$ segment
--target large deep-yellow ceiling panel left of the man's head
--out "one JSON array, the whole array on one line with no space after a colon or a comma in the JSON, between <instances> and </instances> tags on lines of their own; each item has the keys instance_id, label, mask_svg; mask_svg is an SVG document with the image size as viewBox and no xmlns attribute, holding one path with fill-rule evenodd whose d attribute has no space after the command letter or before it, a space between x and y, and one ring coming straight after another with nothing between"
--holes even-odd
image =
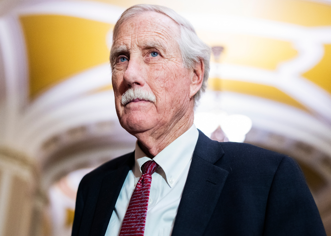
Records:
<instances>
[{"instance_id":1,"label":"large deep-yellow ceiling panel left of the man's head","mask_svg":"<svg viewBox=\"0 0 331 236\"><path fill-rule=\"evenodd\" d=\"M58 15L21 16L33 99L86 69L107 63L106 36L114 25Z\"/></svg>"}]
</instances>

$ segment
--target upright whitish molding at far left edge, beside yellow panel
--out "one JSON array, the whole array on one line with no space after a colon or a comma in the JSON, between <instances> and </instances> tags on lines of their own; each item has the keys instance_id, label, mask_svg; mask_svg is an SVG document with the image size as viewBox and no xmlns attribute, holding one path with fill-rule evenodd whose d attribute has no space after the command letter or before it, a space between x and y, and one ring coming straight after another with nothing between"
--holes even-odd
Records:
<instances>
[{"instance_id":1,"label":"upright whitish molding at far left edge, beside yellow panel","mask_svg":"<svg viewBox=\"0 0 331 236\"><path fill-rule=\"evenodd\" d=\"M24 36L17 18L0 18L0 47L6 83L5 142L13 142L15 129L28 99L28 69Z\"/></svg>"}]
</instances>

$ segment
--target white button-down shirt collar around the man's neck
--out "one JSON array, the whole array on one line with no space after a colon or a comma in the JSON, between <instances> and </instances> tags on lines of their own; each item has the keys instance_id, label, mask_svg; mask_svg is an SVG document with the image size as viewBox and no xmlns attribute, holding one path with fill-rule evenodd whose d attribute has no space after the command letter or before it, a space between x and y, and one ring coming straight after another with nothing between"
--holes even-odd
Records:
<instances>
[{"instance_id":1,"label":"white button-down shirt collar around the man's neck","mask_svg":"<svg viewBox=\"0 0 331 236\"><path fill-rule=\"evenodd\" d=\"M170 188L176 183L185 166L192 159L195 145L197 144L199 131L193 124L185 133L180 135L172 143L166 146L153 160L160 165L166 174L166 181ZM135 173L142 174L141 166L150 161L149 157L141 150L136 142L135 149Z\"/></svg>"}]
</instances>

